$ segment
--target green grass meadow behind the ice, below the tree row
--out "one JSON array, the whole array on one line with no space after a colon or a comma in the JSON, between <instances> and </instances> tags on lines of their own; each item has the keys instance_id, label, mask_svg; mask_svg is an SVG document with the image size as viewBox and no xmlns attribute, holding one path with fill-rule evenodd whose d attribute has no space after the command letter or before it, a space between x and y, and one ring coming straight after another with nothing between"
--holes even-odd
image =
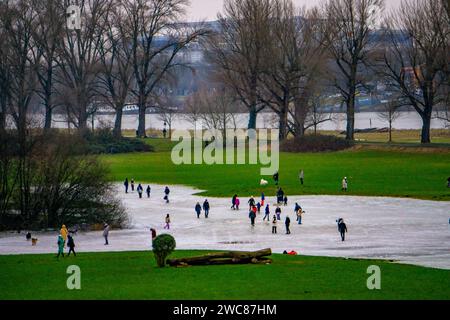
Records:
<instances>
[{"instance_id":1,"label":"green grass meadow behind the ice, below the tree row","mask_svg":"<svg viewBox=\"0 0 450 320\"><path fill-rule=\"evenodd\" d=\"M152 139L149 143L158 151L102 156L111 169L111 180L121 182L128 177L136 182L183 184L218 197L276 192L270 176L266 177L269 186L259 186L259 165L176 166L170 158L170 141ZM300 169L305 171L303 187L298 179ZM447 149L416 152L362 147L333 153L280 154L280 185L288 195L340 195L344 176L349 179L349 195L450 200Z\"/></svg>"}]
</instances>

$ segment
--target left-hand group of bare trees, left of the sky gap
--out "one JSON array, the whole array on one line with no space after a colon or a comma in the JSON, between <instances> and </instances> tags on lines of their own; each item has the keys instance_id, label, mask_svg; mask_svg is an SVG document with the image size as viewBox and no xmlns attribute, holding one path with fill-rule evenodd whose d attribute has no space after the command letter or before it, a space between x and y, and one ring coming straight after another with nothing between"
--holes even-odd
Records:
<instances>
[{"instance_id":1,"label":"left-hand group of bare trees, left of the sky gap","mask_svg":"<svg viewBox=\"0 0 450 320\"><path fill-rule=\"evenodd\" d=\"M70 5L80 8L80 28L67 23ZM117 112L139 108L139 136L145 112L164 92L178 58L206 33L178 23L186 0L11 0L0 3L0 127L10 115L24 133L29 109L45 108L45 128L55 108L79 130L100 104Z\"/></svg>"}]
</instances>

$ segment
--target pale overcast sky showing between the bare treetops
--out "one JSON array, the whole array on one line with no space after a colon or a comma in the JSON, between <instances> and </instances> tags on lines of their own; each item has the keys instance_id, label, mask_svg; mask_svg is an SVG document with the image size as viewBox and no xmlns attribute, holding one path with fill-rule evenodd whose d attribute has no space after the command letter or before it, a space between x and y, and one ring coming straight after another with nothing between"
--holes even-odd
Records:
<instances>
[{"instance_id":1,"label":"pale overcast sky showing between the bare treetops","mask_svg":"<svg viewBox=\"0 0 450 320\"><path fill-rule=\"evenodd\" d=\"M217 12L222 10L223 0L190 0L191 5L188 8L187 20L215 20ZM297 6L314 6L321 0L293 0ZM398 6L401 0L386 0L387 8Z\"/></svg>"}]
</instances>

